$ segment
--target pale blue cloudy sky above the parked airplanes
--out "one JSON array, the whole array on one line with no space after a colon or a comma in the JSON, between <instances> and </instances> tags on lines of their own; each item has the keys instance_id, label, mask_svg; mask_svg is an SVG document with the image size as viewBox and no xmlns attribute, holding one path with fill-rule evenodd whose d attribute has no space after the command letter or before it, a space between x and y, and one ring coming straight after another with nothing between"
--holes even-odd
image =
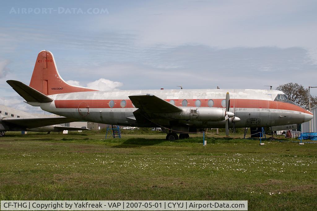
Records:
<instances>
[{"instance_id":1,"label":"pale blue cloudy sky above the parked airplanes","mask_svg":"<svg viewBox=\"0 0 317 211\"><path fill-rule=\"evenodd\" d=\"M29 84L54 54L69 84L100 90L317 86L316 1L1 1L0 104L42 113ZM317 88L312 89L317 95Z\"/></svg>"}]
</instances>

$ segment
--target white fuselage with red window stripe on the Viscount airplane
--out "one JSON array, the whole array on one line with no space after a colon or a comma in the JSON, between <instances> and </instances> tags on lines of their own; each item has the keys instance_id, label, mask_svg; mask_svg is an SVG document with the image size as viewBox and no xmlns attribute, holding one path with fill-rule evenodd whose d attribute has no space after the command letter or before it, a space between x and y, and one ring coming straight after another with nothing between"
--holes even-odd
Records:
<instances>
[{"instance_id":1,"label":"white fuselage with red window stripe on the Viscount airplane","mask_svg":"<svg viewBox=\"0 0 317 211\"><path fill-rule=\"evenodd\" d=\"M230 109L240 121L235 127L266 127L287 124L299 124L311 119L312 114L294 103L276 101L277 90L122 90L88 91L50 95L53 102L41 103L43 110L85 121L115 124L122 126L146 127L133 119L134 108L128 96L152 94L170 102L182 110L224 108L226 92L230 93ZM175 124L195 125L197 128L225 127L225 120L217 121L202 117L182 119L181 116L157 114L149 123L168 127ZM230 122L230 124L232 124Z\"/></svg>"}]
</instances>

